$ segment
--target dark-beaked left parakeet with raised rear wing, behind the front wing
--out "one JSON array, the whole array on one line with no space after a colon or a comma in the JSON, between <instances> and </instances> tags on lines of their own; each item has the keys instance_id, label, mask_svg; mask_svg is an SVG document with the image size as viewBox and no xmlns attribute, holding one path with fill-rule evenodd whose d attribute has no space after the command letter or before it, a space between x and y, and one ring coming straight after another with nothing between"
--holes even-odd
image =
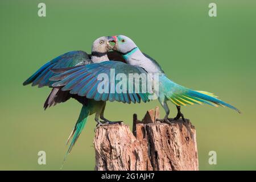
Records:
<instances>
[{"instance_id":1,"label":"dark-beaked left parakeet with raised rear wing, behind the front wing","mask_svg":"<svg viewBox=\"0 0 256 182\"><path fill-rule=\"evenodd\" d=\"M112 40L112 36L104 36L96 39L92 44L92 55L88 55L84 51L71 51L56 57L55 59L43 65L31 77L24 81L23 85L32 83L32 86L38 85L39 88L42 86L52 87L51 85L55 81L50 81L49 78L59 75L59 73L52 72L52 69L79 67L80 65L109 61L108 56L112 58L118 57L117 53L108 52L110 49L112 49L112 46L109 44L109 41ZM119 57L118 60L122 61L122 57ZM97 121L99 125L102 124L102 122L99 120L99 117L106 123L116 123L111 122L104 117L104 110L106 106L105 101L95 101L85 97L70 94L68 91L61 90L59 87L53 88L51 90L51 93L49 94L44 104L44 109L47 109L49 106L56 105L57 103L65 102L69 100L69 98L75 98L77 101L79 101L82 104L82 109L79 118L77 119L77 123L67 141L68 143L69 139L73 136L71 145L68 149L68 153L71 151L73 145L79 137L89 115L96 113L95 121Z\"/></svg>"}]
</instances>

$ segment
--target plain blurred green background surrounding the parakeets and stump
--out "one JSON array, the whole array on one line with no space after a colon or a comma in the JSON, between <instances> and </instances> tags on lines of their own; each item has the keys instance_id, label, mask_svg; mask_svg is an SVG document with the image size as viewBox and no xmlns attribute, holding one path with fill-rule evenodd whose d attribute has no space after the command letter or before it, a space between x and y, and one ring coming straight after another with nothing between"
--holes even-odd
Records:
<instances>
[{"instance_id":1,"label":"plain blurred green background surrounding the parakeets and stump","mask_svg":"<svg viewBox=\"0 0 256 182\"><path fill-rule=\"evenodd\" d=\"M39 2L46 3L44 18L38 16ZM210 2L217 4L217 17L208 16ZM0 169L60 169L81 105L70 100L44 111L49 88L22 82L48 60L73 50L90 52L94 39L118 34L135 40L175 82L213 92L242 111L182 109L196 126L201 170L256 169L255 5L241 0L1 0ZM156 105L108 102L105 113L131 126L133 113L142 118ZM95 126L90 117L63 169L94 169ZM46 165L37 162L40 150L46 151ZM217 165L208 163L212 150Z\"/></svg>"}]
</instances>

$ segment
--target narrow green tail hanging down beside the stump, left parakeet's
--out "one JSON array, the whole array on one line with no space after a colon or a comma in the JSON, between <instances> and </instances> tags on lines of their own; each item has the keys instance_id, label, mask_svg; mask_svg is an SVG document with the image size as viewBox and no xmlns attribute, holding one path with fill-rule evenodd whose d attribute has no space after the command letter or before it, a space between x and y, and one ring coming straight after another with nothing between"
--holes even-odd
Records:
<instances>
[{"instance_id":1,"label":"narrow green tail hanging down beside the stump, left parakeet's","mask_svg":"<svg viewBox=\"0 0 256 182\"><path fill-rule=\"evenodd\" d=\"M70 154L73 146L75 145L77 139L79 138L79 135L81 134L82 129L84 129L84 125L87 121L87 118L88 118L89 114L90 114L89 106L88 105L83 105L82 109L81 109L81 112L80 112L80 115L79 115L79 119L77 119L77 122L76 122L76 125L75 125L74 129L72 130L71 134L68 137L68 140L67 140L66 144L69 143L69 140L71 138L72 138L72 140L71 140L71 144L68 148L68 151L65 155L64 162L65 162L65 159L67 158L67 155Z\"/></svg>"}]
</instances>

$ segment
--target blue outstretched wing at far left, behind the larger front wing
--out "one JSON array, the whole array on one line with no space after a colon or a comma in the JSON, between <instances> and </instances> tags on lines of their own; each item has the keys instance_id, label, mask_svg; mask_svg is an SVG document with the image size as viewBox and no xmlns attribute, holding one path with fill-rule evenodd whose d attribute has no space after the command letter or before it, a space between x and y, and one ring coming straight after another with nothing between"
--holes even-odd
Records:
<instances>
[{"instance_id":1,"label":"blue outstretched wing at far left, behind the larger front wing","mask_svg":"<svg viewBox=\"0 0 256 182\"><path fill-rule=\"evenodd\" d=\"M84 51L71 51L64 53L63 55L60 55L44 64L32 76L27 78L27 80L23 82L23 85L32 83L32 86L38 85L39 88L42 86L51 86L53 81L49 81L49 78L56 75L56 73L51 72L51 69L75 67L76 65L88 63L92 62L88 54Z\"/></svg>"}]
</instances>

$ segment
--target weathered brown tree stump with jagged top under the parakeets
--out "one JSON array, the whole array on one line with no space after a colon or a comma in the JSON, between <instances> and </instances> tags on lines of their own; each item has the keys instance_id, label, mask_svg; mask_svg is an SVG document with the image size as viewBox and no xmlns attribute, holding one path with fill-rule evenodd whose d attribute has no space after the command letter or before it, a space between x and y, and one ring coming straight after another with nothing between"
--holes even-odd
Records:
<instances>
[{"instance_id":1,"label":"weathered brown tree stump with jagged top under the parakeets","mask_svg":"<svg viewBox=\"0 0 256 182\"><path fill-rule=\"evenodd\" d=\"M159 108L142 121L133 116L127 125L98 127L94 137L96 170L198 170L196 130L191 122L158 123Z\"/></svg>"}]
</instances>

